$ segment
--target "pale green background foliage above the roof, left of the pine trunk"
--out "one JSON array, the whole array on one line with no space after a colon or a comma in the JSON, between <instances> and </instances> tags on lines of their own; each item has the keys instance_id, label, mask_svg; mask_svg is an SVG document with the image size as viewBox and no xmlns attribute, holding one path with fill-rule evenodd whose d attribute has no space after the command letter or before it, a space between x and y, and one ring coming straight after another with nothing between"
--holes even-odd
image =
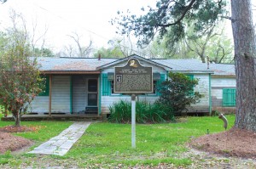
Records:
<instances>
[{"instance_id":1,"label":"pale green background foliage above the roof, left of the pine trunk","mask_svg":"<svg viewBox=\"0 0 256 169\"><path fill-rule=\"evenodd\" d=\"M171 35L175 32L169 31L158 42L164 43L166 56L168 58L196 58L203 63L230 63L233 60L233 45L229 37L224 35L224 23L212 25L201 37L195 36L194 25L186 28L187 33L183 38L172 42Z\"/></svg>"}]
</instances>

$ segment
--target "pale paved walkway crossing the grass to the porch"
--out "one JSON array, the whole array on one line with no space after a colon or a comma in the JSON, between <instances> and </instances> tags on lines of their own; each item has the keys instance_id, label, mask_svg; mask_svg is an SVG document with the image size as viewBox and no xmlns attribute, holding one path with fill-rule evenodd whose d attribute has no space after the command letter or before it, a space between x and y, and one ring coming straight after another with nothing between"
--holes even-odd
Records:
<instances>
[{"instance_id":1,"label":"pale paved walkway crossing the grass to the porch","mask_svg":"<svg viewBox=\"0 0 256 169\"><path fill-rule=\"evenodd\" d=\"M79 121L74 122L73 125L61 132L55 138L49 139L48 142L39 145L37 148L28 152L31 154L45 154L45 155L65 155L67 151L73 146L76 141L84 134L90 122Z\"/></svg>"}]
</instances>

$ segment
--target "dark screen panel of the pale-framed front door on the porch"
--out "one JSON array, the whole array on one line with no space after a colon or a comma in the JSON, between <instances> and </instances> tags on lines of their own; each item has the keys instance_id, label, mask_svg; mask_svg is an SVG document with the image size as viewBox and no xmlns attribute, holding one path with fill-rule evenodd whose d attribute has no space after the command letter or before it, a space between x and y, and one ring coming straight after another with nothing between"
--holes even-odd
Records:
<instances>
[{"instance_id":1,"label":"dark screen panel of the pale-framed front door on the porch","mask_svg":"<svg viewBox=\"0 0 256 169\"><path fill-rule=\"evenodd\" d=\"M98 81L97 79L88 80L88 106L95 107L98 104Z\"/></svg>"}]
</instances>

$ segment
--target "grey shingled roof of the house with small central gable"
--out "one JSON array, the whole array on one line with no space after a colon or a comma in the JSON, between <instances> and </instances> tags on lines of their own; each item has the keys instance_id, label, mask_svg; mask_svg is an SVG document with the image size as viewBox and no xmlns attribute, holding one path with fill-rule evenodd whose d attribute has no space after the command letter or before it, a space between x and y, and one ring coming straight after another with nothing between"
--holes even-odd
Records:
<instances>
[{"instance_id":1,"label":"grey shingled roof of the house with small central gable","mask_svg":"<svg viewBox=\"0 0 256 169\"><path fill-rule=\"evenodd\" d=\"M39 70L44 72L97 72L111 65L116 65L128 59L137 58L148 63L159 65L166 70L181 71L184 73L212 73L213 76L235 76L235 65L201 63L199 59L145 59L131 55L124 59L97 59L97 58L50 58L38 57Z\"/></svg>"}]
</instances>

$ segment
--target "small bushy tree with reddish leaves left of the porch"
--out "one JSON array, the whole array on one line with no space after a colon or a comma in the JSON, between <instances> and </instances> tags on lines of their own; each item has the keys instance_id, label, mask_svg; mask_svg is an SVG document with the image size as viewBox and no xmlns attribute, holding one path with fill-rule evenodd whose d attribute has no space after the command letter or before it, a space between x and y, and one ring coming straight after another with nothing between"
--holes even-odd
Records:
<instances>
[{"instance_id":1,"label":"small bushy tree with reddish leaves left of the porch","mask_svg":"<svg viewBox=\"0 0 256 169\"><path fill-rule=\"evenodd\" d=\"M32 59L32 48L23 25L19 29L12 15L13 27L1 34L0 48L0 104L12 113L15 126L20 126L20 116L26 111L38 93L42 91L44 78L39 76L36 59Z\"/></svg>"}]
</instances>

